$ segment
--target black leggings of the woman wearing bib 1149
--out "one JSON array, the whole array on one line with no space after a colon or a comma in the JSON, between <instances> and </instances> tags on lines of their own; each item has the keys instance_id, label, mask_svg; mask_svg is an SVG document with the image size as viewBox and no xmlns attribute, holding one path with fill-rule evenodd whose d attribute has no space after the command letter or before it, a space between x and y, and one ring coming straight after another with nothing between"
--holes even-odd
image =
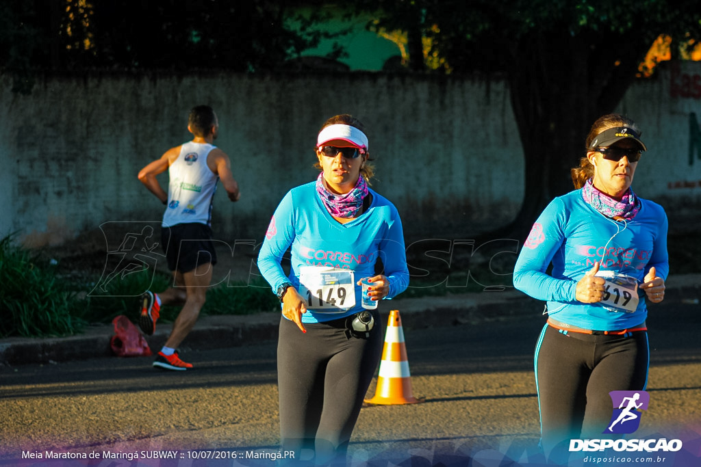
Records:
<instances>
[{"instance_id":1,"label":"black leggings of the woman wearing bib 1149","mask_svg":"<svg viewBox=\"0 0 701 467\"><path fill-rule=\"evenodd\" d=\"M382 328L367 339L345 333L346 319L305 323L280 319L280 443L297 460L343 463L355 421L382 351ZM309 449L309 450L307 450Z\"/></svg>"}]
</instances>

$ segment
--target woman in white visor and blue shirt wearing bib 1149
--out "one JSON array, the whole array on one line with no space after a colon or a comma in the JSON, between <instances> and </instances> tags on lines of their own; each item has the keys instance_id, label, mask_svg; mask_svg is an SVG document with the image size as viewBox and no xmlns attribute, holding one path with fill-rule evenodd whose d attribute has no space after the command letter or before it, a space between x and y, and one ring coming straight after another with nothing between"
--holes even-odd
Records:
<instances>
[{"instance_id":1,"label":"woman in white visor and blue shirt wearing bib 1149","mask_svg":"<svg viewBox=\"0 0 701 467\"><path fill-rule=\"evenodd\" d=\"M345 463L381 354L382 326L376 309L362 306L361 281L369 279L374 301L393 298L409 284L402 222L394 205L367 184L367 149L356 118L329 118L317 138L322 172L285 195L258 258L282 302L282 447L298 460L313 452L321 465ZM289 274L281 265L287 249ZM375 271L378 260L381 274ZM364 311L372 314L374 327L359 333L353 321Z\"/></svg>"}]
</instances>

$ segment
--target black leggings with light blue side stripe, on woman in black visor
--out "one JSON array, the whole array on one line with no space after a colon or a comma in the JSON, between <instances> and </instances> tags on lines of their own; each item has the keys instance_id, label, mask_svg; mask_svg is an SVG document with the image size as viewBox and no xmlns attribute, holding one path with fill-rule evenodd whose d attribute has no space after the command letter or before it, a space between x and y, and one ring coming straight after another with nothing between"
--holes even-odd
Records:
<instances>
[{"instance_id":1,"label":"black leggings with light blue side stripe, on woman in black visor","mask_svg":"<svg viewBox=\"0 0 701 467\"><path fill-rule=\"evenodd\" d=\"M545 454L572 438L604 438L601 433L613 413L608 393L644 390L649 355L646 331L587 335L545 325L536 347L540 442Z\"/></svg>"}]
</instances>

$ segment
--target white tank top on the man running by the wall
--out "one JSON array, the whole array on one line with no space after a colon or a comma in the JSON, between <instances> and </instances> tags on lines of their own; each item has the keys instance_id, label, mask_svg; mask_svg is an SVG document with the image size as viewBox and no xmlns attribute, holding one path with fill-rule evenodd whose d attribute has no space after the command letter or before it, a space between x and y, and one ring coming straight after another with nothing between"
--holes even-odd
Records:
<instances>
[{"instance_id":1,"label":"white tank top on the man running by the wall","mask_svg":"<svg viewBox=\"0 0 701 467\"><path fill-rule=\"evenodd\" d=\"M180 148L177 159L168 167L168 208L163 214L163 227L210 225L219 176L207 166L207 155L216 147L190 141Z\"/></svg>"}]
</instances>

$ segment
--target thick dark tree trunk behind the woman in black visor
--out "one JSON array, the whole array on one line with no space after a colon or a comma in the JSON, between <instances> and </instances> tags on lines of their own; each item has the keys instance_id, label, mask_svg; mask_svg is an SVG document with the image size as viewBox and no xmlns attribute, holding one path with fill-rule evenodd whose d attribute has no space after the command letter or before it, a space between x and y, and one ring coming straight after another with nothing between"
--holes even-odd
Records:
<instances>
[{"instance_id":1,"label":"thick dark tree trunk behind the woman in black visor","mask_svg":"<svg viewBox=\"0 0 701 467\"><path fill-rule=\"evenodd\" d=\"M610 39L534 33L515 47L508 81L524 151L525 191L507 228L513 238L523 241L547 203L574 189L570 169L586 155L592 123L615 109L635 78L646 43L629 41L633 58L621 62L620 48L617 57L606 55Z\"/></svg>"}]
</instances>

